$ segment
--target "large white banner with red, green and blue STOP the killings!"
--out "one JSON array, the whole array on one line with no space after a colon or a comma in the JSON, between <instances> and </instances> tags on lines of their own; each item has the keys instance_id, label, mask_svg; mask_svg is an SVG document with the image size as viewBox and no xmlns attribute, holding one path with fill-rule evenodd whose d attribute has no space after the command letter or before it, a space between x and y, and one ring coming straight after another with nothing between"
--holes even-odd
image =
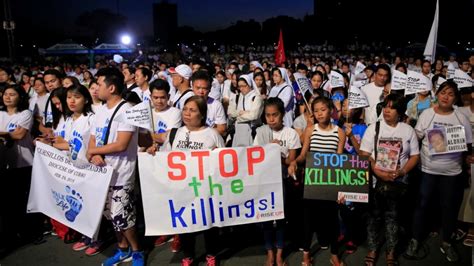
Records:
<instances>
[{"instance_id":1,"label":"large white banner with red, green and blue STOP the killings!","mask_svg":"<svg viewBox=\"0 0 474 266\"><path fill-rule=\"evenodd\" d=\"M138 154L146 235L284 218L277 144Z\"/></svg>"}]
</instances>

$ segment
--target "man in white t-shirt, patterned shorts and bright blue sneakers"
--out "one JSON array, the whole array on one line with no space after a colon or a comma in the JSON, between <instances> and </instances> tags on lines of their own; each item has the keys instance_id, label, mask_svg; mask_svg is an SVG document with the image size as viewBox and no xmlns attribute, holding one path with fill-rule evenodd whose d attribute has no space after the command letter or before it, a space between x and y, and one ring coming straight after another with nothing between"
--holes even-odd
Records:
<instances>
[{"instance_id":1,"label":"man in white t-shirt, patterned shorts and bright blue sneakers","mask_svg":"<svg viewBox=\"0 0 474 266\"><path fill-rule=\"evenodd\" d=\"M102 265L111 266L124 261L144 265L144 253L140 250L135 231L135 205L133 190L137 161L138 132L135 126L115 121L131 105L122 97L123 74L115 68L103 68L97 72L99 98L106 102L96 114L90 134L87 159L97 166L113 167L112 181L106 196L104 216L112 221L118 240L118 250Z\"/></svg>"}]
</instances>

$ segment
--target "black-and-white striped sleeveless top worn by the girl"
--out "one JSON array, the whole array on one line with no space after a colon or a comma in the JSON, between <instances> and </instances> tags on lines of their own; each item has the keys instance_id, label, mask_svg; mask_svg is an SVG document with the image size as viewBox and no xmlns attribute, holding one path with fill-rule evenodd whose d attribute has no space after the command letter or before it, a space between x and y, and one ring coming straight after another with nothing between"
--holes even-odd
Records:
<instances>
[{"instance_id":1,"label":"black-and-white striped sleeveless top worn by the girl","mask_svg":"<svg viewBox=\"0 0 474 266\"><path fill-rule=\"evenodd\" d=\"M337 153L339 144L338 126L334 125L331 131L319 129L318 124L314 125L309 150L311 152Z\"/></svg>"}]
</instances>

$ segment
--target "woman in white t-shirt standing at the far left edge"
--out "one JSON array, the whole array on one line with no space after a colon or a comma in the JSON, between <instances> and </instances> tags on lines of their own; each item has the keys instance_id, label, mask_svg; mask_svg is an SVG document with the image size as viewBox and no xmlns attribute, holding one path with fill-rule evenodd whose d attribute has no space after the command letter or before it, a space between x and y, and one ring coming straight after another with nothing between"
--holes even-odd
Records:
<instances>
[{"instance_id":1,"label":"woman in white t-shirt standing at the far left edge","mask_svg":"<svg viewBox=\"0 0 474 266\"><path fill-rule=\"evenodd\" d=\"M30 135L33 114L28 110L28 94L19 86L7 85L2 100L4 106L0 110L0 137L7 142L2 149L5 161L1 163L7 169L1 175L3 225L0 232L8 232L8 235L2 235L0 239L11 245L10 241L17 236L31 237L27 234L32 229L32 216L26 214L26 205L33 164Z\"/></svg>"}]
</instances>

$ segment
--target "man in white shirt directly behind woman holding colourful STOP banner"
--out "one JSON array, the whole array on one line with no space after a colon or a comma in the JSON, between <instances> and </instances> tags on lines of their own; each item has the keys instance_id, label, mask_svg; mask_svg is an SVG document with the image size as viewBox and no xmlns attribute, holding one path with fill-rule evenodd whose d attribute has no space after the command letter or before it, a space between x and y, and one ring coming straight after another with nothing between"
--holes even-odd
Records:
<instances>
[{"instance_id":1,"label":"man in white shirt directly behind woman holding colourful STOP banner","mask_svg":"<svg viewBox=\"0 0 474 266\"><path fill-rule=\"evenodd\" d=\"M209 97L211 90L211 79L205 70L194 72L191 77L193 83L193 92L197 96L204 97L207 101L207 120L206 125L215 128L219 134L224 135L227 130L227 119L222 103Z\"/></svg>"}]
</instances>

